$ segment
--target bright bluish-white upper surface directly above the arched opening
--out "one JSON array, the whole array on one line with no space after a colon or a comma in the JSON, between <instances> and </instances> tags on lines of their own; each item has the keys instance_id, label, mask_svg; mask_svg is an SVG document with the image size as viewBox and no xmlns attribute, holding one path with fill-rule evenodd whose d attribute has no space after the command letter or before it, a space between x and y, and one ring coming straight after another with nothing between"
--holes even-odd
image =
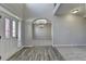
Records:
<instances>
[{"instance_id":1,"label":"bright bluish-white upper surface directly above the arched opening","mask_svg":"<svg viewBox=\"0 0 86 64\"><path fill-rule=\"evenodd\" d=\"M52 15L53 3L26 3L25 18L47 17Z\"/></svg>"}]
</instances>

